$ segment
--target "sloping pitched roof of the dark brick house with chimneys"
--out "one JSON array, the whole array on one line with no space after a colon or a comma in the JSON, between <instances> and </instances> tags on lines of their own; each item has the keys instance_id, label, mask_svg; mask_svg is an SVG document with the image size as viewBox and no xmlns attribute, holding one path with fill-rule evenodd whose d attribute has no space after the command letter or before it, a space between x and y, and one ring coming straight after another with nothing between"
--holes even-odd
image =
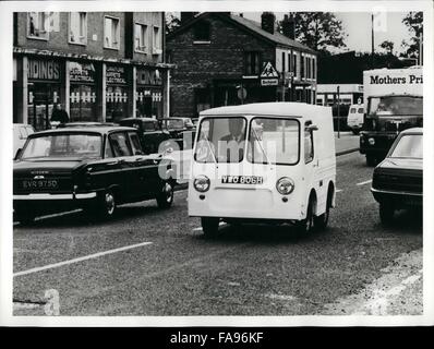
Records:
<instances>
[{"instance_id":1,"label":"sloping pitched roof of the dark brick house with chimneys","mask_svg":"<svg viewBox=\"0 0 434 349\"><path fill-rule=\"evenodd\" d=\"M281 33L275 32L275 34L268 33L267 31L264 31L261 27L261 23L257 23L252 20L248 20L244 17L241 17L236 14L228 14L227 12L225 13L219 13L219 12L204 12L201 15L197 15L193 17L192 20L188 21L185 24L181 25L179 28L177 28L174 32L170 33L167 36L167 39L170 39L177 34L188 29L192 25L194 25L196 22L209 16L209 15L217 15L224 21L230 21L232 24L237 25L241 29L244 29L268 43L272 43L274 45L278 46L285 46L285 47L290 47L290 48L298 48L302 51L311 52L311 53L317 53L315 50L311 49L310 47L300 44L299 41L292 40L289 37L285 36Z\"/></svg>"}]
</instances>

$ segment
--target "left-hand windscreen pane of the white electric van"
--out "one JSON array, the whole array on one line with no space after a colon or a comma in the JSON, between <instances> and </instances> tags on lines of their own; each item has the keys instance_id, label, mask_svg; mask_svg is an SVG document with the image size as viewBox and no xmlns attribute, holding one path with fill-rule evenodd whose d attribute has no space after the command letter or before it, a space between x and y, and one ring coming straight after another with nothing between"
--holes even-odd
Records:
<instances>
[{"instance_id":1,"label":"left-hand windscreen pane of the white electric van","mask_svg":"<svg viewBox=\"0 0 434 349\"><path fill-rule=\"evenodd\" d=\"M201 121L194 159L197 163L240 163L244 156L246 120L243 117Z\"/></svg>"}]
</instances>

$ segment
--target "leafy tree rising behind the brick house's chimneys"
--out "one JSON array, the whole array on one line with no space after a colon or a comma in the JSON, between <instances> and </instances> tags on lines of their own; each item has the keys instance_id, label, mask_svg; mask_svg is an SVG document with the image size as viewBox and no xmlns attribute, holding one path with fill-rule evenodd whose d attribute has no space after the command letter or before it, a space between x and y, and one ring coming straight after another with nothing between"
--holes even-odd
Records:
<instances>
[{"instance_id":1,"label":"leafy tree rising behind the brick house's chimneys","mask_svg":"<svg viewBox=\"0 0 434 349\"><path fill-rule=\"evenodd\" d=\"M301 44L323 53L330 48L346 47L347 34L342 22L330 12L294 12L296 39ZM278 25L281 29L281 22ZM280 31L281 32L281 31Z\"/></svg>"}]
</instances>

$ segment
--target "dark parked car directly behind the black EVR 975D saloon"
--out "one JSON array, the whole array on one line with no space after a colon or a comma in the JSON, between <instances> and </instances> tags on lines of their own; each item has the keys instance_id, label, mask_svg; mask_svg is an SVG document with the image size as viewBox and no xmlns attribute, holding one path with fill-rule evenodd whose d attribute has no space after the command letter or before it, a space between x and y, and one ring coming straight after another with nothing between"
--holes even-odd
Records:
<instances>
[{"instance_id":1,"label":"dark parked car directly behind the black EVR 975D saloon","mask_svg":"<svg viewBox=\"0 0 434 349\"><path fill-rule=\"evenodd\" d=\"M170 133L164 130L157 119L126 118L119 121L120 125L138 130L142 135L146 154L164 153L171 147Z\"/></svg>"}]
</instances>

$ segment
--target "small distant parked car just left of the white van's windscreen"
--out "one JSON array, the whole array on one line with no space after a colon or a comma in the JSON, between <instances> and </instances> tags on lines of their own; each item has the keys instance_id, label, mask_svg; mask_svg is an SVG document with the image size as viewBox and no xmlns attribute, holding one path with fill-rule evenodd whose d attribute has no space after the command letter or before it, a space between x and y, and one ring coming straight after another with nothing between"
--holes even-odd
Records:
<instances>
[{"instance_id":1,"label":"small distant parked car just left of the white van's windscreen","mask_svg":"<svg viewBox=\"0 0 434 349\"><path fill-rule=\"evenodd\" d=\"M190 118L164 118L161 119L161 124L170 133L170 137L177 142L181 151L192 148L196 130Z\"/></svg>"}]
</instances>

